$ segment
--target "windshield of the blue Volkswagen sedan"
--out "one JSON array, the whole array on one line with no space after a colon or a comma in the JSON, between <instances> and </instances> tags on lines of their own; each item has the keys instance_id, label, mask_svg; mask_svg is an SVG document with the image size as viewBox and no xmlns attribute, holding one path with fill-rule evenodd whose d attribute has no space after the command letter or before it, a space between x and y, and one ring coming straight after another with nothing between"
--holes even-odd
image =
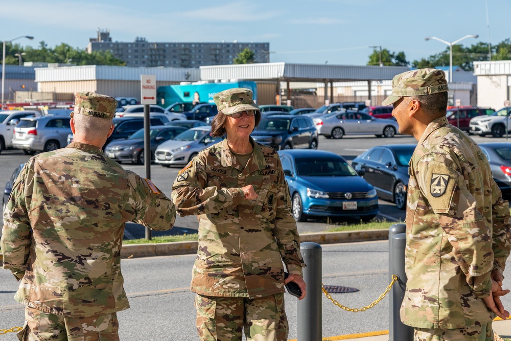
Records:
<instances>
[{"instance_id":1,"label":"windshield of the blue Volkswagen sedan","mask_svg":"<svg viewBox=\"0 0 511 341\"><path fill-rule=\"evenodd\" d=\"M356 176L357 172L337 158L296 158L296 173L300 176Z\"/></svg>"}]
</instances>

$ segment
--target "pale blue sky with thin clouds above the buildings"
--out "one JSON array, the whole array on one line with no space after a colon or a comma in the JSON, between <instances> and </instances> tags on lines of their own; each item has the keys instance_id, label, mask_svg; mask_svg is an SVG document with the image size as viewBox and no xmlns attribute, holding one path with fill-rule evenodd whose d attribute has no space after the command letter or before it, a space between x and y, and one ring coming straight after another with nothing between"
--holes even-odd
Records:
<instances>
[{"instance_id":1,"label":"pale blue sky with thin clouds above the buildings","mask_svg":"<svg viewBox=\"0 0 511 341\"><path fill-rule=\"evenodd\" d=\"M448 47L427 36L496 44L511 37L510 12L510 0L4 0L0 40L85 48L100 28L113 41L269 42L271 62L365 65L370 46L410 61Z\"/></svg>"}]
</instances>

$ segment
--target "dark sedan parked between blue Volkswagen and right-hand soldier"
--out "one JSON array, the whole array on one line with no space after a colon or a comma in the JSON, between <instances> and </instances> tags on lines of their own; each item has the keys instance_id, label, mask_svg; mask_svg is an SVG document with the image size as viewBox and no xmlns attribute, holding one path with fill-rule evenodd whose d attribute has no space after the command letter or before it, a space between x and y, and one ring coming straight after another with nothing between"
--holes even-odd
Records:
<instances>
[{"instance_id":1,"label":"dark sedan parked between blue Volkswagen and right-hand soldier","mask_svg":"<svg viewBox=\"0 0 511 341\"><path fill-rule=\"evenodd\" d=\"M352 166L373 185L380 199L393 201L400 210L406 208L408 163L416 145L373 147L354 158Z\"/></svg>"}]
</instances>

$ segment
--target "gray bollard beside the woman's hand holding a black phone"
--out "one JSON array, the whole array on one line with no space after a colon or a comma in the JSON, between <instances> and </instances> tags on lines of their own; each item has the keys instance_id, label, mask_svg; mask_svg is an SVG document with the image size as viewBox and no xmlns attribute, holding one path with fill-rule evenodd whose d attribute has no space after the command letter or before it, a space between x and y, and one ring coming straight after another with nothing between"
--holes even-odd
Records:
<instances>
[{"instance_id":1,"label":"gray bollard beside the woman's hand holding a black phone","mask_svg":"<svg viewBox=\"0 0 511 341\"><path fill-rule=\"evenodd\" d=\"M298 341L320 341L323 333L321 290L321 245L311 242L300 244L300 252L307 267L304 281L307 284L305 299L298 301Z\"/></svg>"}]
</instances>

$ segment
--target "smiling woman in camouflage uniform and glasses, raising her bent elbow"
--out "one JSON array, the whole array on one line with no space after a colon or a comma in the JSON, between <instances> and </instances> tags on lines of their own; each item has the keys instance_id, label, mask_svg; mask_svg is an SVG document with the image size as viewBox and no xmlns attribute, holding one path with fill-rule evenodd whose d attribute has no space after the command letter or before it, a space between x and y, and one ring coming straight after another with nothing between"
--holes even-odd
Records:
<instances>
[{"instance_id":1,"label":"smiling woman in camouflage uniform and glasses, raising her bent elbow","mask_svg":"<svg viewBox=\"0 0 511 341\"><path fill-rule=\"evenodd\" d=\"M250 138L261 119L250 90L225 90L214 100L212 135L227 137L195 156L172 187L177 213L199 219L191 284L197 331L201 340L241 340L243 329L248 340L286 340L284 283L296 282L300 299L306 288L280 158Z\"/></svg>"}]
</instances>

